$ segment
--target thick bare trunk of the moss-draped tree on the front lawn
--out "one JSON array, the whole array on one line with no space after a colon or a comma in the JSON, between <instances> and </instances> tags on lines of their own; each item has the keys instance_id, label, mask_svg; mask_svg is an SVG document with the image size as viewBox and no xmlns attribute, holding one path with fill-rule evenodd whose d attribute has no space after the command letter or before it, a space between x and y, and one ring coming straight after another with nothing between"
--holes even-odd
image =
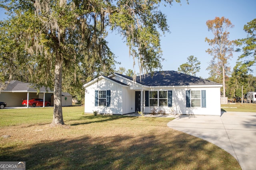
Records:
<instances>
[{"instance_id":1,"label":"thick bare trunk of the moss-draped tree on the front lawn","mask_svg":"<svg viewBox=\"0 0 256 170\"><path fill-rule=\"evenodd\" d=\"M62 55L56 52L54 70L54 106L52 125L64 125L62 115Z\"/></svg>"}]
</instances>

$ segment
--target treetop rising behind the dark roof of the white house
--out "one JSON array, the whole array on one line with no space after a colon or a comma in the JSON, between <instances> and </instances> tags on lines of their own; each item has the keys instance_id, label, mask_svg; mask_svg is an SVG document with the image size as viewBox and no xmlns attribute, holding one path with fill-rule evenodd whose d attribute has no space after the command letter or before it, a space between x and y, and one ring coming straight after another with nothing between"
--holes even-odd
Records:
<instances>
[{"instance_id":1,"label":"treetop rising behind the dark roof of the white house","mask_svg":"<svg viewBox=\"0 0 256 170\"><path fill-rule=\"evenodd\" d=\"M185 64L180 65L180 67L178 68L178 72L189 74L191 76L196 76L196 73L200 70L201 63L193 55L190 55L187 60L188 61Z\"/></svg>"}]
</instances>

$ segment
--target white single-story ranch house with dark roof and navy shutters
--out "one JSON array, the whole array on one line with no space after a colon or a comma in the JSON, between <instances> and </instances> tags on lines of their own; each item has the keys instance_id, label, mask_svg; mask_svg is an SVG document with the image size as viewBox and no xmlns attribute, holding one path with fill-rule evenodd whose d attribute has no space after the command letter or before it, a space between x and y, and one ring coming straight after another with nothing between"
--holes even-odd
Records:
<instances>
[{"instance_id":1,"label":"white single-story ranch house with dark roof and navy shutters","mask_svg":"<svg viewBox=\"0 0 256 170\"><path fill-rule=\"evenodd\" d=\"M176 71L132 77L114 73L84 84L85 113L221 115L222 84Z\"/></svg>"}]
</instances>

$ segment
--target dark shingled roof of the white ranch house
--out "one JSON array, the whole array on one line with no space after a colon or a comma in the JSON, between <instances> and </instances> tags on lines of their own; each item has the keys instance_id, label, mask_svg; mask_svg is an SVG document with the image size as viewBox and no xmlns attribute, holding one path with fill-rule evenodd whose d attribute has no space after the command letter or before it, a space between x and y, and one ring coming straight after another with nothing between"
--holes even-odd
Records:
<instances>
[{"instance_id":1,"label":"dark shingled roof of the white ranch house","mask_svg":"<svg viewBox=\"0 0 256 170\"><path fill-rule=\"evenodd\" d=\"M115 73L118 74L118 73ZM130 76L118 74L130 80ZM156 71L153 74L148 73L141 76L136 76L136 82L145 86L191 86L191 85L221 85L216 82L190 76L176 71Z\"/></svg>"}]
</instances>

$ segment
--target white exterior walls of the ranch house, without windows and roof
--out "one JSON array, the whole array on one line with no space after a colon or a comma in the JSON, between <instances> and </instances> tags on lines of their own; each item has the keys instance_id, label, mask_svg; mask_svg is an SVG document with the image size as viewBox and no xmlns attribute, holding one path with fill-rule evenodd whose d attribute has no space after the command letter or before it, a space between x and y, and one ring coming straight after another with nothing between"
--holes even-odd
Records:
<instances>
[{"instance_id":1,"label":"white exterior walls of the ranch house, without windows and roof","mask_svg":"<svg viewBox=\"0 0 256 170\"><path fill-rule=\"evenodd\" d=\"M151 113L153 107L145 107L145 91L168 91L172 90L172 107L155 107L156 111L165 113L188 114L188 115L220 115L220 86L218 87L143 87L141 84L115 76L114 79L128 84L122 86L107 78L100 78L86 87L85 113L98 111L104 114L126 114L135 111L135 91L143 89L143 112ZM111 90L110 107L95 107L95 90ZM186 90L206 90L206 108L186 107ZM202 96L201 96L202 97ZM201 101L202 103L202 101Z\"/></svg>"}]
</instances>

